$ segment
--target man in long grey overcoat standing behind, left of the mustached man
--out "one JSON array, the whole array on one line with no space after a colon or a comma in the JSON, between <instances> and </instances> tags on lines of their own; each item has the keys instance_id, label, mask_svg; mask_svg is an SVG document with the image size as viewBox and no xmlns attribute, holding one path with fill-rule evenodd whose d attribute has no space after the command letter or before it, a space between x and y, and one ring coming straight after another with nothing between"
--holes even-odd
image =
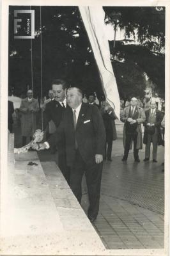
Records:
<instances>
[{"instance_id":1,"label":"man in long grey overcoat standing behind, left of the mustached man","mask_svg":"<svg viewBox=\"0 0 170 256\"><path fill-rule=\"evenodd\" d=\"M33 91L27 91L27 98L22 99L20 103L20 122L22 133L22 146L26 145L27 137L30 140L33 138L33 134L36 130L36 113L39 111L38 100L33 98Z\"/></svg>"}]
</instances>

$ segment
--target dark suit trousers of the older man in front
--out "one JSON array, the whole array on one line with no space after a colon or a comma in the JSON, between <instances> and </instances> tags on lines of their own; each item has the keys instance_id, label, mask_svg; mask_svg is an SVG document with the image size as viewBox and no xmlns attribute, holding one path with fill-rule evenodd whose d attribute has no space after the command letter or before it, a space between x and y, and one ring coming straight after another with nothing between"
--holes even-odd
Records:
<instances>
[{"instance_id":1,"label":"dark suit trousers of the older man in front","mask_svg":"<svg viewBox=\"0 0 170 256\"><path fill-rule=\"evenodd\" d=\"M76 150L75 161L70 168L70 188L81 204L82 197L82 176L85 172L88 187L89 209L88 216L97 217L100 201L100 186L102 179L103 163L87 164L81 157L79 150Z\"/></svg>"}]
</instances>

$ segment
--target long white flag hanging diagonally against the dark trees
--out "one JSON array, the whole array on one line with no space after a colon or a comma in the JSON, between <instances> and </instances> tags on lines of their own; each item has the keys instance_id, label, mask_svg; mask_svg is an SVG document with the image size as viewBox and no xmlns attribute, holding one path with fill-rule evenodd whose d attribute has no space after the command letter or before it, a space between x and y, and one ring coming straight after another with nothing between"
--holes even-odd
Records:
<instances>
[{"instance_id":1,"label":"long white flag hanging diagonally against the dark trees","mask_svg":"<svg viewBox=\"0 0 170 256\"><path fill-rule=\"evenodd\" d=\"M112 70L109 42L105 35L105 12L102 6L79 6L79 10L97 61L105 98L120 119L120 95Z\"/></svg>"}]
</instances>

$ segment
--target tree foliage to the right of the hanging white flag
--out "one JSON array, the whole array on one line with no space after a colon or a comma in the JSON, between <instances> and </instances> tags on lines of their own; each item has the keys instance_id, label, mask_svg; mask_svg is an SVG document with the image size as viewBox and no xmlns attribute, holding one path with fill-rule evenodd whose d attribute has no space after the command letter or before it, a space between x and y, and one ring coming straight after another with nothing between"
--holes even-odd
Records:
<instances>
[{"instance_id":1,"label":"tree foliage to the right of the hanging white flag","mask_svg":"<svg viewBox=\"0 0 170 256\"><path fill-rule=\"evenodd\" d=\"M125 31L125 40L116 44L110 42L113 67L120 61L120 66L125 63L135 73L137 65L153 81L155 90L164 95L165 8L104 7L104 10L107 23L112 24L114 29ZM137 44L134 44L132 36Z\"/></svg>"}]
</instances>

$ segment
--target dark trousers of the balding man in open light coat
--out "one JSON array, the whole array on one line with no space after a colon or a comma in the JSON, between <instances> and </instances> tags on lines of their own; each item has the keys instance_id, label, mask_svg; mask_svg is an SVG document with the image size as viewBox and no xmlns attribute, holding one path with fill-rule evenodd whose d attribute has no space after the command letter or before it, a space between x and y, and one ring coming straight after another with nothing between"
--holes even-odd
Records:
<instances>
[{"instance_id":1,"label":"dark trousers of the balding man in open light coat","mask_svg":"<svg viewBox=\"0 0 170 256\"><path fill-rule=\"evenodd\" d=\"M127 157L128 157L128 152L130 150L131 140L134 141L134 159L139 159L139 156L138 156L139 149L136 149L137 133L135 133L135 132L134 133L127 133L126 134L124 158L127 159Z\"/></svg>"}]
</instances>

